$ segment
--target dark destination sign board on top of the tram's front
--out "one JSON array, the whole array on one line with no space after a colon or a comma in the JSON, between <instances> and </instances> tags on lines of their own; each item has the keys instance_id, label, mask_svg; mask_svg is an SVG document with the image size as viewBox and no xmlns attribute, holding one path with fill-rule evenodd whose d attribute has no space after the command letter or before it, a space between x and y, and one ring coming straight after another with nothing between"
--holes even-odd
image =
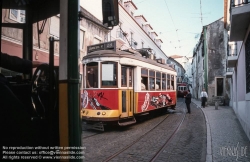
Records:
<instances>
[{"instance_id":1,"label":"dark destination sign board on top of the tram's front","mask_svg":"<svg viewBox=\"0 0 250 162\"><path fill-rule=\"evenodd\" d=\"M87 52L100 51L100 50L116 50L116 41L105 42L87 46Z\"/></svg>"}]
</instances>

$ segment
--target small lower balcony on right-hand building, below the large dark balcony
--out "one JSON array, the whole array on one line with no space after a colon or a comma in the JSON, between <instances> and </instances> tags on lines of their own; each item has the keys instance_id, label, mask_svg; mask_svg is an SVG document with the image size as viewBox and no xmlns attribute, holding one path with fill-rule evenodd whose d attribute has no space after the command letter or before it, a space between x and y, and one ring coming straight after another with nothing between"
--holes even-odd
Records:
<instances>
[{"instance_id":1,"label":"small lower balcony on right-hand building, below the large dark balcony","mask_svg":"<svg viewBox=\"0 0 250 162\"><path fill-rule=\"evenodd\" d=\"M237 56L237 44L234 42L229 42L229 50L227 54L227 66L228 67L235 67L238 56Z\"/></svg>"}]
</instances>

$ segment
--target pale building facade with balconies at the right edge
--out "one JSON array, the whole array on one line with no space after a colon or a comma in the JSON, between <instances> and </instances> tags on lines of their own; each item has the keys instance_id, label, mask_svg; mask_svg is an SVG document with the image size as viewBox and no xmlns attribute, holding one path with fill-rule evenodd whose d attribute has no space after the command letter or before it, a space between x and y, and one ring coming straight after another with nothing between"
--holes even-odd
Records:
<instances>
[{"instance_id":1,"label":"pale building facade with balconies at the right edge","mask_svg":"<svg viewBox=\"0 0 250 162\"><path fill-rule=\"evenodd\" d=\"M250 2L224 0L224 22L228 30L227 74L230 106L250 139Z\"/></svg>"}]
</instances>

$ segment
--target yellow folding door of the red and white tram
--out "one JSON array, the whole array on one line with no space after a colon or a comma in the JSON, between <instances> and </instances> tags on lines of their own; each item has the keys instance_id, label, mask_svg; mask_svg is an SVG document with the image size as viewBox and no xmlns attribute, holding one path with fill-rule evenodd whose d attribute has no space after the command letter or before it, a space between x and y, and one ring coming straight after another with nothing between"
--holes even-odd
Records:
<instances>
[{"instance_id":1,"label":"yellow folding door of the red and white tram","mask_svg":"<svg viewBox=\"0 0 250 162\"><path fill-rule=\"evenodd\" d=\"M121 66L121 117L131 117L134 112L134 88L133 88L133 67L130 66Z\"/></svg>"}]
</instances>

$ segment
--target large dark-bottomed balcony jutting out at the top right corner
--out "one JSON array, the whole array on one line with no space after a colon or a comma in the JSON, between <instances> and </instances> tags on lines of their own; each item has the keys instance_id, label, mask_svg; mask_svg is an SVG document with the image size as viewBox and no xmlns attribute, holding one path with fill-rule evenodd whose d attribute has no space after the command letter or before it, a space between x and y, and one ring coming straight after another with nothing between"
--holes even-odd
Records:
<instances>
[{"instance_id":1,"label":"large dark-bottomed balcony jutting out at the top right corner","mask_svg":"<svg viewBox=\"0 0 250 162\"><path fill-rule=\"evenodd\" d=\"M230 41L242 41L250 22L250 0L232 0Z\"/></svg>"}]
</instances>

